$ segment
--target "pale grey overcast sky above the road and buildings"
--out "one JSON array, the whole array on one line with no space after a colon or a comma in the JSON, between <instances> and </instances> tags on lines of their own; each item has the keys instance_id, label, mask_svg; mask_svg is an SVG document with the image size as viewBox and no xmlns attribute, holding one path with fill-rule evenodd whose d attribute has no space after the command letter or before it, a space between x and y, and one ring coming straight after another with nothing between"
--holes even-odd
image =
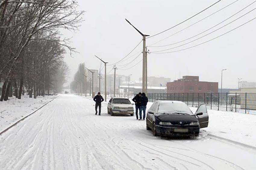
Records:
<instances>
[{"instance_id":1,"label":"pale grey overcast sky above the road and buildings","mask_svg":"<svg viewBox=\"0 0 256 170\"><path fill-rule=\"evenodd\" d=\"M80 52L79 54L74 54L73 58L68 54L65 55L65 61L70 67L69 82L73 79L73 74L76 72L79 63L84 62L90 69L100 68L100 62L94 57L94 54L110 64L115 63L126 56L126 54L141 41L142 36L125 21L125 18L142 33L154 35L186 20L216 1L217 0L78 0L80 10L86 11L84 14L85 21L82 23L78 32L64 32L64 36L73 37L71 45ZM222 0L217 5L214 5L193 19L163 34L148 38L146 45L149 46L158 42L235 1L236 0ZM194 36L220 23L253 1L254 0L238 0L233 5L217 12L211 17L155 45L171 44ZM256 2L208 32L229 23L253 8L256 8ZM208 41L251 20L255 16L256 10L202 39L168 51L180 50ZM218 39L188 50L169 54L148 54L148 76L164 76L173 80L188 74L199 76L200 81L219 82L220 87L221 69L227 69L223 72L223 88L237 88L238 78L242 78L248 82L256 82L255 27L256 19ZM186 42L161 48L148 47L148 49L149 51L157 51L182 45ZM142 51L142 43L132 54L139 51ZM122 63L119 63L119 65L124 65L133 60L133 62L123 69L130 68L142 59L141 55L134 60L136 56L137 55L134 55L124 60ZM122 66L117 66L117 68L121 67ZM107 73L110 72L111 69L112 66L108 66ZM113 73L113 71L111 73ZM130 70L117 70L117 74L133 74L131 79L138 80L139 77L142 77L142 62Z\"/></svg>"}]
</instances>

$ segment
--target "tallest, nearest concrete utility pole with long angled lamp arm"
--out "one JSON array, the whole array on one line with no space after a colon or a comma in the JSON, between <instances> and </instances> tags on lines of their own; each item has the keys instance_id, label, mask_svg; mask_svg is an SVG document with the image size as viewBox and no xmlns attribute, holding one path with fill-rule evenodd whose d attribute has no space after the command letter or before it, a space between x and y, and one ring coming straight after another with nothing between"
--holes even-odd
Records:
<instances>
[{"instance_id":1,"label":"tallest, nearest concrete utility pole with long angled lamp arm","mask_svg":"<svg viewBox=\"0 0 256 170\"><path fill-rule=\"evenodd\" d=\"M125 19L126 20L126 19ZM128 20L126 20L131 26L133 26ZM146 86L146 70L147 70L147 61L146 61L146 36L149 36L149 35L145 35L145 34L142 34L142 32L140 32L135 26L133 26L134 29L136 29L136 31L138 31L140 33L140 35L142 35L143 37L143 61L142 61L142 92L146 92L146 89L145 89L145 86Z\"/></svg>"}]
</instances>

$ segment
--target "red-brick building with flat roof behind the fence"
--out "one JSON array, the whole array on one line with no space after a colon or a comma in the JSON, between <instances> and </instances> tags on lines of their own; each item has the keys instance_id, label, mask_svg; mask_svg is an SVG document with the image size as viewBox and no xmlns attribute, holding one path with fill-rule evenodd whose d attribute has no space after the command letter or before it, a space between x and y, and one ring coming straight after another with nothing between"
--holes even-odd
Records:
<instances>
[{"instance_id":1,"label":"red-brick building with flat roof behind the fence","mask_svg":"<svg viewBox=\"0 0 256 170\"><path fill-rule=\"evenodd\" d=\"M218 82L199 82L199 76L183 76L167 82L167 93L218 93Z\"/></svg>"}]
</instances>

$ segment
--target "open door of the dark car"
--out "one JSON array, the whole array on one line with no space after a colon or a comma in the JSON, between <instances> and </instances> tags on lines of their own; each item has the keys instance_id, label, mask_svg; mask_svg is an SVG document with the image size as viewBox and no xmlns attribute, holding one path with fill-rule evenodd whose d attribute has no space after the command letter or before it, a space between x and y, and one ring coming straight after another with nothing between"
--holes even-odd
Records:
<instances>
[{"instance_id":1,"label":"open door of the dark car","mask_svg":"<svg viewBox=\"0 0 256 170\"><path fill-rule=\"evenodd\" d=\"M198 115L199 113L199 115ZM203 114L201 114L203 113ZM200 123L200 128L207 128L208 127L208 122L209 122L209 115L207 113L207 107L205 104L201 104L196 112L195 115Z\"/></svg>"}]
</instances>

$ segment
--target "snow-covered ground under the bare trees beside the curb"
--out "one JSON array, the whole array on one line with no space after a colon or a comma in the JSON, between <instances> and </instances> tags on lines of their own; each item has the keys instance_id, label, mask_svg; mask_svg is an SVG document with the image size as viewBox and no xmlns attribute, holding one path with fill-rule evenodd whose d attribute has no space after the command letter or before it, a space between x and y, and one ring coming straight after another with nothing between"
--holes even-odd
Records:
<instances>
[{"instance_id":1,"label":"snow-covered ground under the bare trees beside the curb","mask_svg":"<svg viewBox=\"0 0 256 170\"><path fill-rule=\"evenodd\" d=\"M38 96L34 99L25 95L21 99L9 97L9 100L0 102L0 132L55 97Z\"/></svg>"}]
</instances>

